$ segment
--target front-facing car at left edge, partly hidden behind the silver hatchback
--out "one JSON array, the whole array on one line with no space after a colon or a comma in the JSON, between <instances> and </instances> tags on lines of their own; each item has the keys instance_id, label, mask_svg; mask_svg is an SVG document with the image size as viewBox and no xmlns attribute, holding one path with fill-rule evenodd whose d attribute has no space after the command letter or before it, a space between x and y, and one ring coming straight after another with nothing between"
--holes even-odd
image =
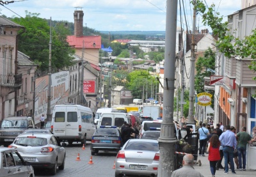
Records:
<instances>
[{"instance_id":1,"label":"front-facing car at left edge, partly hidden behind the silver hatchback","mask_svg":"<svg viewBox=\"0 0 256 177\"><path fill-rule=\"evenodd\" d=\"M7 147L28 128L36 128L31 117L4 118L0 129L0 146Z\"/></svg>"}]
</instances>

